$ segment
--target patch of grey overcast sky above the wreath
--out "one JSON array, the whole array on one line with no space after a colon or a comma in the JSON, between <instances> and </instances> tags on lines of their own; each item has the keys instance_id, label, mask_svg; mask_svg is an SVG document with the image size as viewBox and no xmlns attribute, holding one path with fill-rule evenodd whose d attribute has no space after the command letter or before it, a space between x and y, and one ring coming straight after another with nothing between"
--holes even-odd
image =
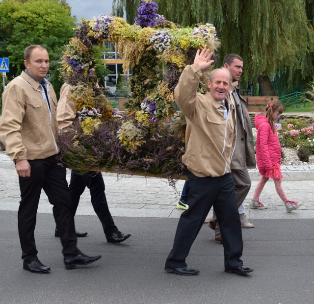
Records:
<instances>
[{"instance_id":1,"label":"patch of grey overcast sky above the wreath","mask_svg":"<svg viewBox=\"0 0 314 304\"><path fill-rule=\"evenodd\" d=\"M110 15L112 9L112 0L67 0L67 3L78 21L83 17L90 20L99 15Z\"/></svg>"}]
</instances>

